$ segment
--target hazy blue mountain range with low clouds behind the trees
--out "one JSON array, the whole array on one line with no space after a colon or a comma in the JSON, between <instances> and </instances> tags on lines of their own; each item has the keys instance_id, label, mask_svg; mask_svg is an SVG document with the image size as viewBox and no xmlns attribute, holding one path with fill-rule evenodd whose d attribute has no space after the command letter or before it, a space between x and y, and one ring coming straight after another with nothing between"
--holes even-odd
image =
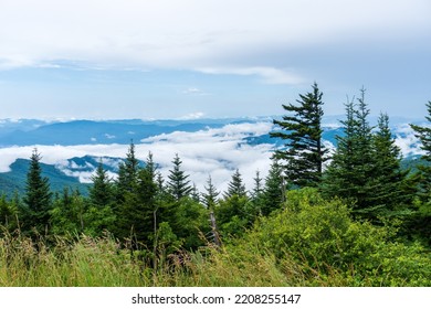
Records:
<instances>
[{"instance_id":1,"label":"hazy blue mountain range with low clouds behind the trees","mask_svg":"<svg viewBox=\"0 0 431 309\"><path fill-rule=\"evenodd\" d=\"M207 164L201 170L196 168L197 163L192 167L195 170L191 172L201 177L200 180L198 179L199 182L203 182L204 173L221 173L221 169L232 171L235 168L234 157L238 157L239 152L250 157L248 159L250 166L253 166L253 162L262 161L261 166L253 168L264 170L266 163L263 163L263 160L267 160L267 152L282 146L280 139L270 138L269 132L273 129L272 119L273 117L70 121L3 119L0 120L0 160L2 152L8 153L4 156L9 158L10 164L9 168L4 167L7 170L0 172L0 192L10 194L15 190L24 191L28 158L31 153L28 153L27 157L19 153L28 151L29 147L52 147L46 151L59 152L50 153L50 157L57 156L57 159L42 163L43 174L50 178L53 191L61 191L63 187L70 187L80 189L83 194L86 194L87 183L91 182L91 177L99 162L104 164L109 175L115 178L118 164L124 160L126 153L125 151L118 152L117 148L128 146L132 140L137 145L143 145L143 147L147 146L148 149L155 148L157 150L161 147L160 145L165 146L158 150L157 154L160 159L164 159L165 154L174 158L175 152L185 152L185 161L195 160L193 162L200 164L213 160L211 167ZM343 135L338 119L343 119L343 116L325 117L324 119L324 140L329 147L336 145L337 135ZM375 119L371 119L372 121ZM401 148L404 158L414 158L414 156L420 154L420 145L408 126L410 122L421 124L421 120L397 118L392 119L391 124L397 145ZM218 143L229 145L229 148L223 150L222 147L219 147L220 153L217 153L219 152ZM204 148L209 147L214 147L214 150L204 152ZM73 156L72 150L76 152L77 149L82 156ZM113 149L116 149L116 152ZM123 147L123 149L127 148ZM87 151L88 153L86 153ZM69 152L70 157L67 157ZM165 159L165 163L161 162L165 174L169 170L169 159ZM218 166L216 167L216 164ZM245 173L250 174L251 171ZM224 179L220 177L219 183L225 183L229 180L228 175L229 173L224 171Z\"/></svg>"}]
</instances>

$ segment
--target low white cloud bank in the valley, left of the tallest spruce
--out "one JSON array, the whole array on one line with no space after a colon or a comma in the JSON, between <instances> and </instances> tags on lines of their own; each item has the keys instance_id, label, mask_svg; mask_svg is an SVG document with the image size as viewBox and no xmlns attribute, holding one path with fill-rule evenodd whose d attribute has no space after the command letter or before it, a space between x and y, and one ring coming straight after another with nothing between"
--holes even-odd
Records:
<instances>
[{"instance_id":1,"label":"low white cloud bank in the valley, left of the tallest spruce","mask_svg":"<svg viewBox=\"0 0 431 309\"><path fill-rule=\"evenodd\" d=\"M255 171L260 170L262 177L267 172L272 145L250 146L243 141L243 138L267 134L271 128L271 124L261 122L228 125L196 132L177 131L143 140L143 143L136 145L136 154L140 160L145 160L151 151L155 162L166 178L172 168L171 161L178 153L183 162L183 170L190 174L190 180L201 191L203 191L209 174L219 190L225 190L232 173L238 168L243 174L248 189L252 190ZM67 159L86 154L124 158L128 148L127 145L115 143L35 147L42 154L42 162L59 166L61 170L69 175L77 177L82 182L90 182L92 173L67 171ZM1 148L0 172L9 171L9 166L17 158L28 159L33 149L34 146ZM117 164L118 162L104 158L104 163Z\"/></svg>"}]
</instances>

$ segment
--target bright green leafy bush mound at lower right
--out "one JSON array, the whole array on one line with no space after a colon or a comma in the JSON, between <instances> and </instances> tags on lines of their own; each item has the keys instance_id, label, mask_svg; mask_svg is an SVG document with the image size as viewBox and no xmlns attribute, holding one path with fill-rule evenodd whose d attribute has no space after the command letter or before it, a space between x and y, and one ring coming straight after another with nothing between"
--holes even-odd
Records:
<instances>
[{"instance_id":1,"label":"bright green leafy bush mound at lower right","mask_svg":"<svg viewBox=\"0 0 431 309\"><path fill-rule=\"evenodd\" d=\"M355 222L341 201L304 189L288 192L286 210L262 220L245 239L280 263L293 258L309 278L318 274L325 280L336 273L353 286L430 286L430 254L393 241L396 232Z\"/></svg>"}]
</instances>

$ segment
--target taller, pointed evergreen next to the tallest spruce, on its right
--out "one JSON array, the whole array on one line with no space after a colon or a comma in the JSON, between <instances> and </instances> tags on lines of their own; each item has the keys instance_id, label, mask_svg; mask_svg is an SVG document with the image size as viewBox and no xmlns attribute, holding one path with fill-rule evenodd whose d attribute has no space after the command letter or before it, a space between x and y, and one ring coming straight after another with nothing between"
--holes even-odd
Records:
<instances>
[{"instance_id":1,"label":"taller, pointed evergreen next to the tallest spruce, on its right","mask_svg":"<svg viewBox=\"0 0 431 309\"><path fill-rule=\"evenodd\" d=\"M372 149L372 127L368 122L369 109L365 89L358 105L346 104L344 136L337 136L337 149L325 172L322 191L327 196L349 200L355 214L370 217L378 211L372 204L371 180L378 173Z\"/></svg>"}]
</instances>

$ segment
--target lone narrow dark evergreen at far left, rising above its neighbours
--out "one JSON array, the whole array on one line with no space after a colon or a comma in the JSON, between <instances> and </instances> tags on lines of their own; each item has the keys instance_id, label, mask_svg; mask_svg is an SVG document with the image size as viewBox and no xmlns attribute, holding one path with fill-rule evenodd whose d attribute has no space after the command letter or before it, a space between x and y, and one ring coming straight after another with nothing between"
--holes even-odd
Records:
<instances>
[{"instance_id":1,"label":"lone narrow dark evergreen at far left, rising above its neighbours","mask_svg":"<svg viewBox=\"0 0 431 309\"><path fill-rule=\"evenodd\" d=\"M41 154L38 149L33 150L30 158L30 168L27 174L25 195L23 202L27 206L27 225L28 228L35 228L39 233L48 231L50 223L50 210L52 193L50 190L49 179L42 177L40 160Z\"/></svg>"}]
</instances>

